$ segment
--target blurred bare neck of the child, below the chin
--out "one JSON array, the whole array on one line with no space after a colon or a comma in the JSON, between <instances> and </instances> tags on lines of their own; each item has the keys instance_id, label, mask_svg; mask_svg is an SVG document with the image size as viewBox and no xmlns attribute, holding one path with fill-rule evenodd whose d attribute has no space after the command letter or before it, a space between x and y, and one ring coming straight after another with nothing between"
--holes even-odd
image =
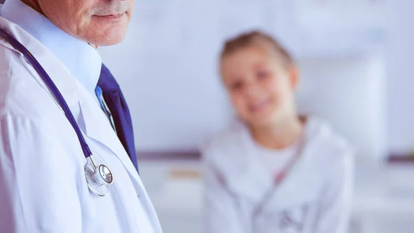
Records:
<instances>
[{"instance_id":1,"label":"blurred bare neck of the child, below the chin","mask_svg":"<svg viewBox=\"0 0 414 233\"><path fill-rule=\"evenodd\" d=\"M268 125L250 125L253 139L266 148L284 149L296 143L304 133L304 119L297 115L279 119Z\"/></svg>"}]
</instances>

